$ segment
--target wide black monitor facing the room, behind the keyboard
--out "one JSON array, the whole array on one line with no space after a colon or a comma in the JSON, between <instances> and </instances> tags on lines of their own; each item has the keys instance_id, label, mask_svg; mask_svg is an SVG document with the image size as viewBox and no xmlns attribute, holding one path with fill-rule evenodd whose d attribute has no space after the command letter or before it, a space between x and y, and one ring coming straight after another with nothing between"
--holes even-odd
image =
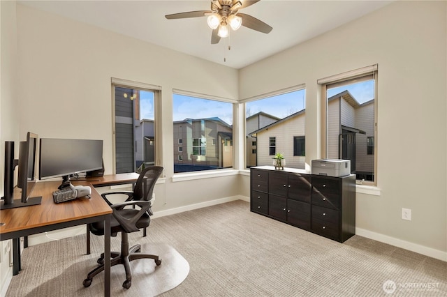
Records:
<instances>
[{"instance_id":1,"label":"wide black monitor facing the room, behind the keyboard","mask_svg":"<svg viewBox=\"0 0 447 297\"><path fill-rule=\"evenodd\" d=\"M59 189L73 187L70 176L103 168L103 141L41 138L39 178L62 176Z\"/></svg>"}]
</instances>

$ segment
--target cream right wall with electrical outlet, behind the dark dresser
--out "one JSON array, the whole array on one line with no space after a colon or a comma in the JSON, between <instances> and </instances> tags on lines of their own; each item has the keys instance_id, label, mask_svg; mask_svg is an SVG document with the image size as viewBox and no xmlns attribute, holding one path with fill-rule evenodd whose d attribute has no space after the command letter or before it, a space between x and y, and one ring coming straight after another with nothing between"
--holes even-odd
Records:
<instances>
[{"instance_id":1,"label":"cream right wall with electrical outlet, behind the dark dresser","mask_svg":"<svg viewBox=\"0 0 447 297\"><path fill-rule=\"evenodd\" d=\"M380 195L357 193L357 234L447 261L446 5L397 1L247 66L240 99L304 83L309 163L320 157L317 79L378 63Z\"/></svg>"}]
</instances>

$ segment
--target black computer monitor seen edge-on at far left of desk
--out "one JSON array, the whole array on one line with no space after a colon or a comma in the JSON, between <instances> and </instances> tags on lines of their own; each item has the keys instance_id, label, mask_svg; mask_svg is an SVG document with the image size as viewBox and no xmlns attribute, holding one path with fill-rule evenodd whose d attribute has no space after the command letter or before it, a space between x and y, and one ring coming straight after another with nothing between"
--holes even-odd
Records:
<instances>
[{"instance_id":1,"label":"black computer monitor seen edge-on at far left of desk","mask_svg":"<svg viewBox=\"0 0 447 297\"><path fill-rule=\"evenodd\" d=\"M27 140L24 142L20 142L19 160L18 160L19 174L17 180L17 188L22 189L22 196L20 200L18 199L13 200L12 197L10 197L11 199L6 199L5 195L5 201L3 201L3 204L1 204L1 209L41 204L42 197L31 197L31 193L33 192L34 186L36 185L37 182L36 178L37 139L38 135L32 132L28 132ZM13 178L13 172L14 172L14 166L12 167L12 170L8 170L8 172L5 172L5 175L8 176L8 180L10 178Z\"/></svg>"}]
</instances>

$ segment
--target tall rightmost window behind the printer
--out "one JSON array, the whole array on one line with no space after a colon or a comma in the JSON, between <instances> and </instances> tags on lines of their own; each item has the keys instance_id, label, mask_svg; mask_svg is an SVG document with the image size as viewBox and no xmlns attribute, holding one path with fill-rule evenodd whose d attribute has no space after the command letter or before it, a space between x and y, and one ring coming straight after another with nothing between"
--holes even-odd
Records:
<instances>
[{"instance_id":1,"label":"tall rightmost window behind the printer","mask_svg":"<svg viewBox=\"0 0 447 297\"><path fill-rule=\"evenodd\" d=\"M351 160L351 173L376 184L377 65L318 79L322 86L322 157ZM366 144L366 146L365 146Z\"/></svg>"}]
</instances>

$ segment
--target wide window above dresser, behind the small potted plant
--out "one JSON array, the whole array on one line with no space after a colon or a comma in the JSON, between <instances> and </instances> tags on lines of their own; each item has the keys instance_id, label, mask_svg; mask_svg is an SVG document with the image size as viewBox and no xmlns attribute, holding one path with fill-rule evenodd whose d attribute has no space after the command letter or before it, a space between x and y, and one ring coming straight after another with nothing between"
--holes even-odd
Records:
<instances>
[{"instance_id":1,"label":"wide window above dresser, behind the small potted plant","mask_svg":"<svg viewBox=\"0 0 447 297\"><path fill-rule=\"evenodd\" d=\"M305 169L302 155L295 154L294 136L305 136L305 95L303 85L241 100L245 103L245 165L272 165L272 155L283 153L287 167Z\"/></svg>"}]
</instances>

